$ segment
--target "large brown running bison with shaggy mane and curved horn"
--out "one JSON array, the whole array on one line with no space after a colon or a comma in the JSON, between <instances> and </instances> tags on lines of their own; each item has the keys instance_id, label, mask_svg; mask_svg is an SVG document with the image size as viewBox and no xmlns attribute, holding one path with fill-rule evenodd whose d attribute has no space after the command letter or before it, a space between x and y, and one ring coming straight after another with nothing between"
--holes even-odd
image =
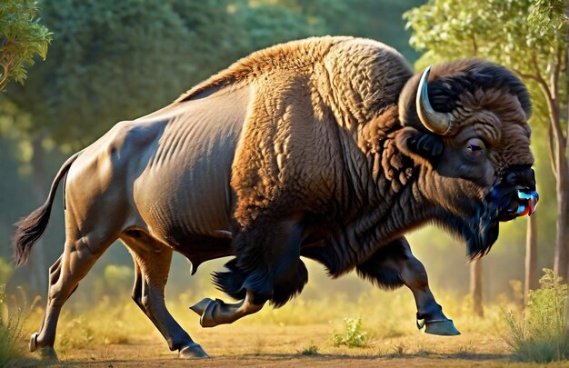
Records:
<instances>
[{"instance_id":1,"label":"large brown running bison with shaggy mane and curved horn","mask_svg":"<svg viewBox=\"0 0 569 368\"><path fill-rule=\"evenodd\" d=\"M355 269L379 287L406 285L427 333L457 334L404 234L437 224L474 258L499 221L532 214L530 113L522 82L483 60L414 75L393 48L352 37L245 57L73 155L17 224L20 265L64 179L65 247L30 349L55 355L61 307L117 239L135 261L135 303L182 357L207 355L165 307L174 251L193 273L235 255L214 282L240 302L195 304L204 327L284 305L307 282L304 256L333 277Z\"/></svg>"}]
</instances>

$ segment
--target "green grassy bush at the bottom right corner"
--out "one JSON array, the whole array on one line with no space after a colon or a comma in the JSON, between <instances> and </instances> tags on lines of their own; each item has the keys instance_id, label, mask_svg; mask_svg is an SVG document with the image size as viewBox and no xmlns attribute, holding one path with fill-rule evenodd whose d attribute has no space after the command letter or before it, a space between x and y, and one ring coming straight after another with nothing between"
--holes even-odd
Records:
<instances>
[{"instance_id":1,"label":"green grassy bush at the bottom right corner","mask_svg":"<svg viewBox=\"0 0 569 368\"><path fill-rule=\"evenodd\" d=\"M524 318L517 322L506 313L510 330L505 338L516 360L548 363L569 359L569 334L565 330L564 301L567 285L552 270L544 269L541 288L528 297Z\"/></svg>"}]
</instances>

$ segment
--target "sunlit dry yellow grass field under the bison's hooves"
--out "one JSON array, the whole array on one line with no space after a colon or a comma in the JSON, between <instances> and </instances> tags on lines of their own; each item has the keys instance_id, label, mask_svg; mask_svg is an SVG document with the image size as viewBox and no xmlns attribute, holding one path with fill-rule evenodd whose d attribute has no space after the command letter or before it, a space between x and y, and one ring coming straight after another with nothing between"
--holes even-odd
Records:
<instances>
[{"instance_id":1,"label":"sunlit dry yellow grass field under the bison's hooves","mask_svg":"<svg viewBox=\"0 0 569 368\"><path fill-rule=\"evenodd\" d=\"M214 292L212 292L214 293ZM215 293L214 293L215 294ZM210 293L211 295L211 293ZM162 336L135 303L105 296L95 305L68 303L60 320L55 348L59 362L41 361L25 353L14 366L72 367L366 367L366 366L484 366L525 367L515 363L504 340L504 313L520 313L505 299L487 305L484 319L469 312L467 299L443 294L439 302L463 333L456 337L428 335L414 327L414 301L408 290L370 290L358 300L344 293L324 299L295 299L283 308L265 308L231 325L204 329L187 306L197 295L180 294L168 304L175 318L210 359L180 360L169 352ZM214 296L221 296L214 295ZM40 305L43 303L40 303ZM43 310L33 309L25 321L21 349L39 326ZM356 333L363 347L336 345L334 334L345 337L345 318L361 318ZM552 363L551 366L569 366Z\"/></svg>"}]
</instances>

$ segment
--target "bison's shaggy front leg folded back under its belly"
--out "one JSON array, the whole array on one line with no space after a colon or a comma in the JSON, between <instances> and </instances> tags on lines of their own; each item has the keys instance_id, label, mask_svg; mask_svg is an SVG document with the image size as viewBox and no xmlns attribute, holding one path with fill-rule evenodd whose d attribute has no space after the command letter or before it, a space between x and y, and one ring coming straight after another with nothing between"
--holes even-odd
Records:
<instances>
[{"instance_id":1,"label":"bison's shaggy front leg folded back under its belly","mask_svg":"<svg viewBox=\"0 0 569 368\"><path fill-rule=\"evenodd\" d=\"M235 260L226 273L215 274L216 285L239 303L205 298L191 309L203 327L234 323L260 311L267 301L282 306L300 293L308 280L300 260L302 228L293 221L253 227L235 236Z\"/></svg>"}]
</instances>

